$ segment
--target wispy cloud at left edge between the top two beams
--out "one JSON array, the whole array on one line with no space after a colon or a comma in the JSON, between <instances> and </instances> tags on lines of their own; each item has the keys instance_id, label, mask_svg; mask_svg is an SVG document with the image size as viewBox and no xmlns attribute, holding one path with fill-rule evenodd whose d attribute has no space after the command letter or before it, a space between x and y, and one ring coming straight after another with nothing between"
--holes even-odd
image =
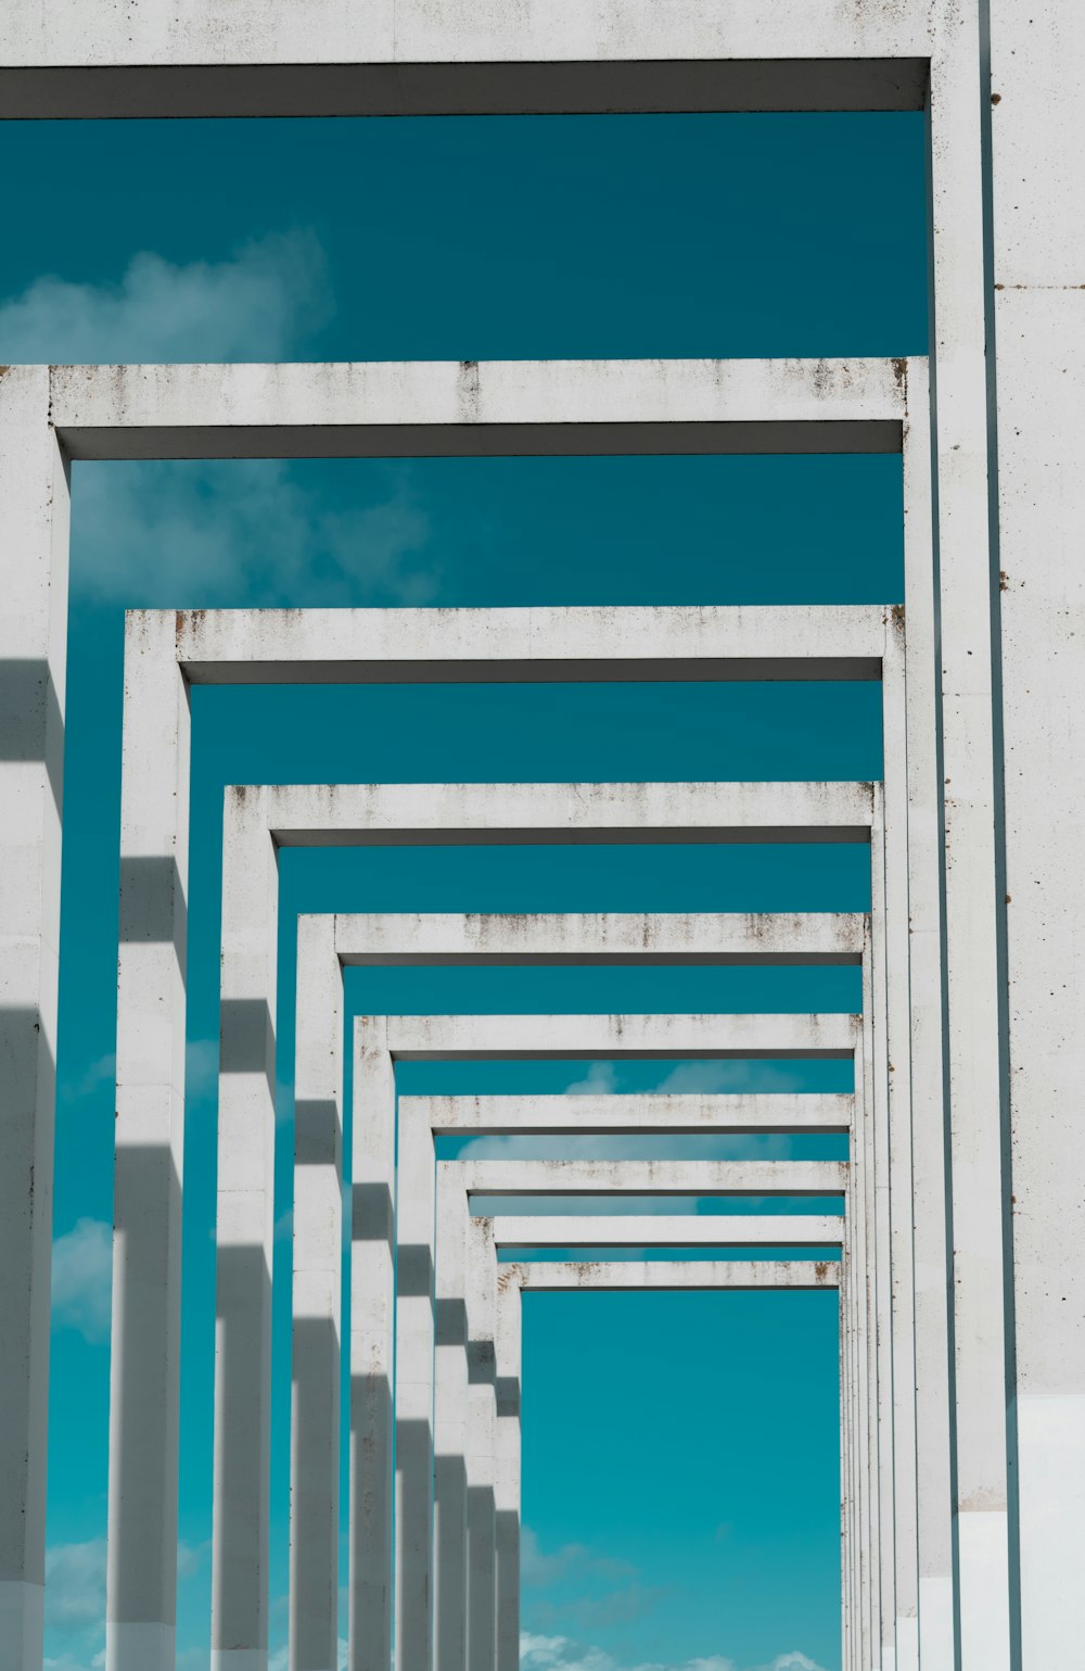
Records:
<instances>
[{"instance_id":1,"label":"wispy cloud at left edge between the top two beams","mask_svg":"<svg viewBox=\"0 0 1085 1671\"><path fill-rule=\"evenodd\" d=\"M45 276L0 302L0 361L287 359L331 311L310 231L272 232L217 262L142 251L112 284Z\"/></svg>"}]
</instances>

